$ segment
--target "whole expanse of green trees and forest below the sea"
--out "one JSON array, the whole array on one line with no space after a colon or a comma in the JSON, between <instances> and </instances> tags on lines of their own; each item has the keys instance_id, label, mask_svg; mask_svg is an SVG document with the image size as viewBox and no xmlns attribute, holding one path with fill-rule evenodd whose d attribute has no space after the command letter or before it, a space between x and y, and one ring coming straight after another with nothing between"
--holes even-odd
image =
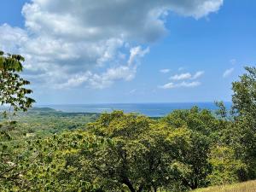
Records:
<instances>
[{"instance_id":1,"label":"whole expanse of green trees and forest below the sea","mask_svg":"<svg viewBox=\"0 0 256 192\"><path fill-rule=\"evenodd\" d=\"M187 191L255 179L256 68L246 69L233 83L230 112L218 102L216 113L194 107L161 119L18 113L1 137L0 189Z\"/></svg>"}]
</instances>

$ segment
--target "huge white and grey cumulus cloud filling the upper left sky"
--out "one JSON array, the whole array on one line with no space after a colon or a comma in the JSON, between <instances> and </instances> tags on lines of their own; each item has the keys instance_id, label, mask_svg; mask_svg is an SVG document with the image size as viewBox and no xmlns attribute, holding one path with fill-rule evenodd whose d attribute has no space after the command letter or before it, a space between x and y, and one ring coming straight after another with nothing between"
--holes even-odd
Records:
<instances>
[{"instance_id":1,"label":"huge white and grey cumulus cloud filling the upper left sky","mask_svg":"<svg viewBox=\"0 0 256 192\"><path fill-rule=\"evenodd\" d=\"M223 0L32 0L22 9L24 28L0 26L0 49L26 57L25 73L32 83L104 88L135 77L147 44L166 34L170 11L199 19L222 4Z\"/></svg>"}]
</instances>

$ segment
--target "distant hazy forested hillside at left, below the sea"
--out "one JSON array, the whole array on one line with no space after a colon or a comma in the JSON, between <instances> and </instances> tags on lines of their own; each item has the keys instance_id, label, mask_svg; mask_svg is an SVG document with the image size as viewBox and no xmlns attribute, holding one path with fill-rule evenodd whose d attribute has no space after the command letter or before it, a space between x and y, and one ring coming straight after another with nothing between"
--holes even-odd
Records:
<instances>
[{"instance_id":1,"label":"distant hazy forested hillside at left, below the sea","mask_svg":"<svg viewBox=\"0 0 256 192\"><path fill-rule=\"evenodd\" d=\"M17 125L15 129L9 130L9 134L14 139L49 137L62 131L84 129L87 123L94 121L98 116L98 113L65 113L52 108L32 108L13 117Z\"/></svg>"}]
</instances>

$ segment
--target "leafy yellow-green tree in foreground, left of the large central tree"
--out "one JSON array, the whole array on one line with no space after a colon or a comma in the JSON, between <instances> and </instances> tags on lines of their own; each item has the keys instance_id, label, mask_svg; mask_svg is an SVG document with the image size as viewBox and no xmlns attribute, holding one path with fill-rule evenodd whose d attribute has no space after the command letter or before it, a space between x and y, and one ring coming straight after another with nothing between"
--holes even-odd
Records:
<instances>
[{"instance_id":1,"label":"leafy yellow-green tree in foreground, left of the large central tree","mask_svg":"<svg viewBox=\"0 0 256 192\"><path fill-rule=\"evenodd\" d=\"M36 156L26 162L26 188L29 191L96 191L100 181L93 180L90 172L91 153L107 141L86 131L67 131L44 139L28 141Z\"/></svg>"}]
</instances>

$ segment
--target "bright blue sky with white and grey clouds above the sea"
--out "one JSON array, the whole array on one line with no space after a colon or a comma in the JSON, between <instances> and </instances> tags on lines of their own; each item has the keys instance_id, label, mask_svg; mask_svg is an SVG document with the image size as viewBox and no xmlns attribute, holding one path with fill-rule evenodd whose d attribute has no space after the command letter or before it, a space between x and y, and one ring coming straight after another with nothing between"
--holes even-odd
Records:
<instances>
[{"instance_id":1,"label":"bright blue sky with white and grey clouds above the sea","mask_svg":"<svg viewBox=\"0 0 256 192\"><path fill-rule=\"evenodd\" d=\"M256 61L253 0L2 0L0 49L38 104L231 100Z\"/></svg>"}]
</instances>

